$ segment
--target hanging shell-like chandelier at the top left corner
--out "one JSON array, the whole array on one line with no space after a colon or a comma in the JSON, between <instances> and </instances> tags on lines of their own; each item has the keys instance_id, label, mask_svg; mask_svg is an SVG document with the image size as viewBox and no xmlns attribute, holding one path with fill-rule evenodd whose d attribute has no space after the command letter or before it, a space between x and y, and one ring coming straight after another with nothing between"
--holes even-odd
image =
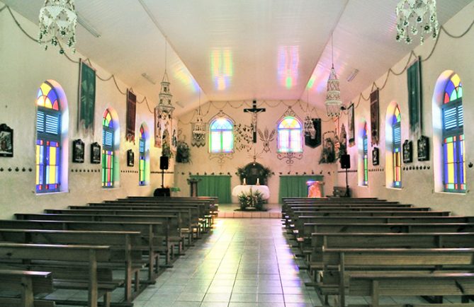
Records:
<instances>
[{"instance_id":1,"label":"hanging shell-like chandelier at the top left corner","mask_svg":"<svg viewBox=\"0 0 474 307\"><path fill-rule=\"evenodd\" d=\"M76 25L77 15L74 8L74 0L45 0L45 5L40 9L40 34L38 42L47 42L57 46L58 37L64 40L72 52L76 52ZM60 49L63 54L64 50Z\"/></svg>"}]
</instances>

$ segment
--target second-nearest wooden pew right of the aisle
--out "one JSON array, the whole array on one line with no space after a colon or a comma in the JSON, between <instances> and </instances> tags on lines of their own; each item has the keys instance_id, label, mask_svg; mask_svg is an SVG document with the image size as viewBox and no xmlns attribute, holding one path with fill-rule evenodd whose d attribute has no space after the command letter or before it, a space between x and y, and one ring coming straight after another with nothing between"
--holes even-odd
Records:
<instances>
[{"instance_id":1,"label":"second-nearest wooden pew right of the aisle","mask_svg":"<svg viewBox=\"0 0 474 307\"><path fill-rule=\"evenodd\" d=\"M350 288L358 284L351 284L352 274L359 278L364 274L367 276L376 275L379 279L383 277L393 279L400 273L411 274L410 277L416 279L418 284L412 284L413 289L410 293L424 295L423 289L429 288L431 283L441 283L442 278L437 279L436 275L432 274L433 272L444 273L441 271L444 267L448 270L455 269L456 273L463 273L462 270L472 270L474 248L324 248L322 259L324 272L318 288L326 296L337 294L339 306L345 306L347 287L349 286L349 293L354 294L354 290L351 291ZM417 276L420 278L417 279ZM428 276L431 276L431 279L427 278ZM401 284L406 280L407 278L400 279L398 283ZM471 280L474 285L474 279ZM363 286L362 284L358 285ZM358 289L357 291L362 290ZM370 288L363 289L363 291L363 293L371 293ZM461 292L458 290L457 294L461 294ZM470 295L470 293L474 294L469 291L465 295ZM398 295L404 294L402 292ZM429 295L442 296L445 294L436 292Z\"/></svg>"}]
</instances>

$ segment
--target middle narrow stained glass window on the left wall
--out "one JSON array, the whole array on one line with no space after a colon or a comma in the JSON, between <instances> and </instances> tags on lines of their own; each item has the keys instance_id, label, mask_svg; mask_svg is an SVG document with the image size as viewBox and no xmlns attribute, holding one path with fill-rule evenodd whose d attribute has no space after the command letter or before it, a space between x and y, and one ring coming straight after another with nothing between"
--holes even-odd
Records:
<instances>
[{"instance_id":1,"label":"middle narrow stained glass window on the left wall","mask_svg":"<svg viewBox=\"0 0 474 307\"><path fill-rule=\"evenodd\" d=\"M113 187L113 133L113 119L107 109L102 120L102 187Z\"/></svg>"}]
</instances>

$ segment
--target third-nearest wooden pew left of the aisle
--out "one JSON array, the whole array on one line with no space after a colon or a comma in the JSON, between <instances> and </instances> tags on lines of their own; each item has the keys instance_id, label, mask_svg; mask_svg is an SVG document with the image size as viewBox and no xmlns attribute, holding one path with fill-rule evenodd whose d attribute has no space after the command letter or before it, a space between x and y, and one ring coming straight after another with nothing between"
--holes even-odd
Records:
<instances>
[{"instance_id":1,"label":"third-nearest wooden pew left of the aisle","mask_svg":"<svg viewBox=\"0 0 474 307\"><path fill-rule=\"evenodd\" d=\"M139 249L142 245L140 231L57 231L39 229L3 229L0 228L0 240L11 243L35 244L75 244L75 245L110 245L110 263L101 264L106 267L124 270L125 301L140 294L140 269L145 263ZM132 289L132 279L135 277L135 287ZM133 292L132 290L135 290Z\"/></svg>"}]
</instances>

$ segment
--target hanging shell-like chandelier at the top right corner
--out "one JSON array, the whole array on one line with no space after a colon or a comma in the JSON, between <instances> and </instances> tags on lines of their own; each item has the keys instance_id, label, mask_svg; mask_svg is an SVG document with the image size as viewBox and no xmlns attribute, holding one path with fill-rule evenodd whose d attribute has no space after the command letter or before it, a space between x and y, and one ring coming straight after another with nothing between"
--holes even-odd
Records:
<instances>
[{"instance_id":1,"label":"hanging shell-like chandelier at the top right corner","mask_svg":"<svg viewBox=\"0 0 474 307\"><path fill-rule=\"evenodd\" d=\"M424 42L424 34L438 36L438 18L436 17L436 0L401 0L395 9L397 14L398 42L404 40L412 43L412 37L421 32L419 41Z\"/></svg>"}]
</instances>

